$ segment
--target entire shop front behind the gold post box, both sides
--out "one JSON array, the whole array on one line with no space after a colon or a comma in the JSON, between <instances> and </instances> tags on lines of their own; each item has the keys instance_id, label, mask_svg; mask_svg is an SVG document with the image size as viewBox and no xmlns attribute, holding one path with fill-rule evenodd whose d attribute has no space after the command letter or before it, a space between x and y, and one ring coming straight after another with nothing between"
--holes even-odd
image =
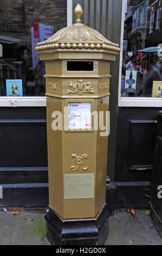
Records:
<instances>
[{"instance_id":1,"label":"entire shop front behind the gold post box, both sides","mask_svg":"<svg viewBox=\"0 0 162 256\"><path fill-rule=\"evenodd\" d=\"M14 12L6 4L5 25L3 21L0 25L0 205L48 205L45 70L34 46L72 25L80 3L83 23L121 48L110 71L109 209L148 207L157 117L162 110L162 2L43 2L16 1Z\"/></svg>"}]
</instances>

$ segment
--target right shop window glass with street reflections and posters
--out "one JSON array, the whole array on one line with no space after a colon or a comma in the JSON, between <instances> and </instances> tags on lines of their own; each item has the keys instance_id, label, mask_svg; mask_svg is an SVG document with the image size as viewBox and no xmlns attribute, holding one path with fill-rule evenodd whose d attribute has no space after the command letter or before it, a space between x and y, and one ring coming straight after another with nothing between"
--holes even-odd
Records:
<instances>
[{"instance_id":1,"label":"right shop window glass with street reflections and posters","mask_svg":"<svg viewBox=\"0 0 162 256\"><path fill-rule=\"evenodd\" d=\"M121 97L162 97L160 4L125 0Z\"/></svg>"}]
</instances>

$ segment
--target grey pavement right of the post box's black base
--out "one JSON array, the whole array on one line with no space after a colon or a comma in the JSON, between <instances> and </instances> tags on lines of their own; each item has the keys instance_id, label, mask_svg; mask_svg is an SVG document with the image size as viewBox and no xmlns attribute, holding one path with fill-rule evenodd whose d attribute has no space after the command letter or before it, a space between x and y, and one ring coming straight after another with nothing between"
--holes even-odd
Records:
<instances>
[{"instance_id":1,"label":"grey pavement right of the post box's black base","mask_svg":"<svg viewBox=\"0 0 162 256\"><path fill-rule=\"evenodd\" d=\"M124 209L116 209L109 217L109 237L106 245L162 245L162 239L155 229L146 209L136 210L134 216Z\"/></svg>"}]
</instances>

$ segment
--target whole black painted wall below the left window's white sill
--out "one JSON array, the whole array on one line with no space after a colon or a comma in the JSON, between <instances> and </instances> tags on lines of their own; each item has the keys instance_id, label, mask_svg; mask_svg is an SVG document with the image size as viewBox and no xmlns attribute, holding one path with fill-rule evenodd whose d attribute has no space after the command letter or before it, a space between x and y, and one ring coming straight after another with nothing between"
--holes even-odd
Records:
<instances>
[{"instance_id":1,"label":"whole black painted wall below the left window's white sill","mask_svg":"<svg viewBox=\"0 0 162 256\"><path fill-rule=\"evenodd\" d=\"M47 206L46 108L0 111L0 206Z\"/></svg>"}]
</instances>

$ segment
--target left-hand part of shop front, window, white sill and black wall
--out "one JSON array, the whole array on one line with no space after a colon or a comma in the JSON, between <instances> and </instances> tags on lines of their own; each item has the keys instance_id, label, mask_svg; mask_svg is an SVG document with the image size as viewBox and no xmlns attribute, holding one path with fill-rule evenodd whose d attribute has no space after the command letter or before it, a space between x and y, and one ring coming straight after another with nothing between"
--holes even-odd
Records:
<instances>
[{"instance_id":1,"label":"left-hand part of shop front, window, white sill and black wall","mask_svg":"<svg viewBox=\"0 0 162 256\"><path fill-rule=\"evenodd\" d=\"M44 63L35 44L67 25L67 1L1 1L1 206L48 205Z\"/></svg>"}]
</instances>

